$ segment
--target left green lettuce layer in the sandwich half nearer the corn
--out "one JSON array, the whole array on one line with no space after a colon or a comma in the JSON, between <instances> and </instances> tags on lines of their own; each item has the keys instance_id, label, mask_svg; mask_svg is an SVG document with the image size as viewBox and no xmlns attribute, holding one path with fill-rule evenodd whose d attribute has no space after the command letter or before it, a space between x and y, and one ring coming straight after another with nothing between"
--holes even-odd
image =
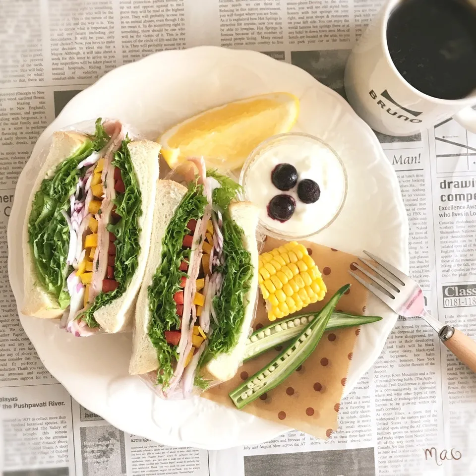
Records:
<instances>
[{"instance_id":1,"label":"left green lettuce layer in the sandwich half nearer the corn","mask_svg":"<svg viewBox=\"0 0 476 476\"><path fill-rule=\"evenodd\" d=\"M157 384L166 388L174 374L173 362L178 359L177 347L170 346L164 331L179 327L174 294L180 290L180 278L186 276L179 270L181 261L188 261L189 251L182 249L183 237L188 233L187 223L203 216L206 197L203 185L190 182L188 191L169 222L162 239L162 261L147 289L150 309L149 338L157 350L160 372Z\"/></svg>"}]
</instances>

